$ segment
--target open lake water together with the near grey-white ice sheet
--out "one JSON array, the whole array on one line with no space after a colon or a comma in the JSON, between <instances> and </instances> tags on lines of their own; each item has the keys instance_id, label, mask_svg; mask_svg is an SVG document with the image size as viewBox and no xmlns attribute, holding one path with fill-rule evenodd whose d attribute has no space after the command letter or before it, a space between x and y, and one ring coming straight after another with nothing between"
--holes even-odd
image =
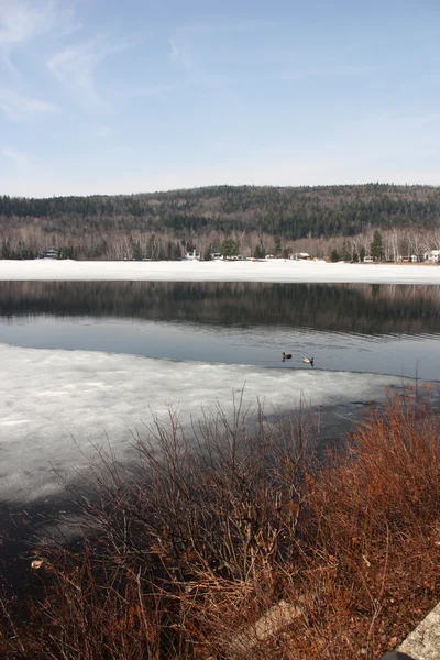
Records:
<instances>
[{"instance_id":1,"label":"open lake water together with the near grey-white ice sheet","mask_svg":"<svg viewBox=\"0 0 440 660\"><path fill-rule=\"evenodd\" d=\"M438 381L439 310L438 285L0 282L0 499L46 501L107 438L130 461L169 406L231 416L243 387L338 440L403 375Z\"/></svg>"}]
</instances>

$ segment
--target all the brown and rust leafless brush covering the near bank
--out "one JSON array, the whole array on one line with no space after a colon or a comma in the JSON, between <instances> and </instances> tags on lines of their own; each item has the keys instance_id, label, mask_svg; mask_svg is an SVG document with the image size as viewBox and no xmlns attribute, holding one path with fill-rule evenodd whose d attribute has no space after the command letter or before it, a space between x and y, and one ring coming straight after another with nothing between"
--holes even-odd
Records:
<instances>
[{"instance_id":1,"label":"all the brown and rust leafless brush covering the near bank","mask_svg":"<svg viewBox=\"0 0 440 660\"><path fill-rule=\"evenodd\" d=\"M2 603L2 657L348 660L394 648L440 595L429 392L391 398L324 464L304 421L260 410L250 433L238 405L189 441L170 414L138 440L136 472L101 454L95 504L79 498L80 549L47 548L44 596Z\"/></svg>"}]
</instances>

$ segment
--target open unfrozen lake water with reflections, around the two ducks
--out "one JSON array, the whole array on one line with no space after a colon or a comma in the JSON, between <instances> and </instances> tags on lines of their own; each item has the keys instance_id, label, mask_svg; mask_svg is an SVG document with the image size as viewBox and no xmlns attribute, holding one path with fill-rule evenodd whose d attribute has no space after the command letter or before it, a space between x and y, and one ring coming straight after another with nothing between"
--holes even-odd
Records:
<instances>
[{"instance_id":1,"label":"open unfrozen lake water with reflections, around the two ducks","mask_svg":"<svg viewBox=\"0 0 440 660\"><path fill-rule=\"evenodd\" d=\"M20 346L439 380L439 339L436 285L0 283L0 342Z\"/></svg>"}]
</instances>

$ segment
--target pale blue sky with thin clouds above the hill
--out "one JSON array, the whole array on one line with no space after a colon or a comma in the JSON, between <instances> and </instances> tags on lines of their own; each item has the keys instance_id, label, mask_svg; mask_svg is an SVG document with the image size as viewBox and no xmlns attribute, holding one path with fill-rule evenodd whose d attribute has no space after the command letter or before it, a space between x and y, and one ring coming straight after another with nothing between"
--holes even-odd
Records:
<instances>
[{"instance_id":1,"label":"pale blue sky with thin clouds above the hill","mask_svg":"<svg viewBox=\"0 0 440 660\"><path fill-rule=\"evenodd\" d=\"M0 195L440 185L438 0L0 0Z\"/></svg>"}]
</instances>

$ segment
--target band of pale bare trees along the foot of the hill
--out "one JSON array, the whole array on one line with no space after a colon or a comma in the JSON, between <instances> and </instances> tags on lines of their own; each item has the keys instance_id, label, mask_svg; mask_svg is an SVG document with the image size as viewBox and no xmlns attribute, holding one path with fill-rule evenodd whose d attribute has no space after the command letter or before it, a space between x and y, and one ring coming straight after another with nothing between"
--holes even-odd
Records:
<instances>
[{"instance_id":1,"label":"band of pale bare trees along the foot of the hill","mask_svg":"<svg viewBox=\"0 0 440 660\"><path fill-rule=\"evenodd\" d=\"M220 230L204 233L195 231L176 234L174 231L131 231L114 228L107 231L85 227L80 234L64 228L63 231L48 232L40 223L29 222L19 226L0 223L0 257L29 258L37 256L42 250L57 248L69 251L76 258L151 258L175 260L185 252L197 249L206 256L218 252L227 238ZM337 251L342 258L355 260L356 255L369 254L373 241L374 228L362 234L334 238L305 238L286 241L258 231L232 231L230 237L237 241L242 256L253 256L258 248L265 254L280 256L286 252L308 252L320 258ZM433 230L420 228L393 228L382 232L384 260L396 262L399 257L413 254L422 255L428 250L440 249L440 226Z\"/></svg>"}]
</instances>

